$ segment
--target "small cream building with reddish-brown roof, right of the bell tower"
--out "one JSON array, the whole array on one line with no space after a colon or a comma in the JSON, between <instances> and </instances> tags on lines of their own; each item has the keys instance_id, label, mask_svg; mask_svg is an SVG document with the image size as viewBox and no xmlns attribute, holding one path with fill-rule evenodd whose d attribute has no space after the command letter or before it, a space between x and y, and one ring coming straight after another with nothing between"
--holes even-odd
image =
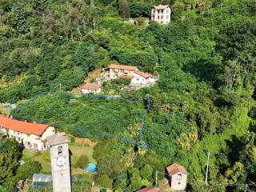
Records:
<instances>
[{"instance_id":1,"label":"small cream building with reddish-brown roof, right of the bell tower","mask_svg":"<svg viewBox=\"0 0 256 192\"><path fill-rule=\"evenodd\" d=\"M186 190L187 172L184 166L173 163L166 167L170 190Z\"/></svg>"}]
</instances>

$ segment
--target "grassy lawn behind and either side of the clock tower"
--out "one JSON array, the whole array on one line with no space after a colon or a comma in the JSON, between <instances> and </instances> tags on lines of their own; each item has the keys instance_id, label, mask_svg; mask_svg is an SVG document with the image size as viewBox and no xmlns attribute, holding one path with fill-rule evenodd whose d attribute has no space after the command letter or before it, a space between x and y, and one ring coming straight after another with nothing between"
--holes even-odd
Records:
<instances>
[{"instance_id":1,"label":"grassy lawn behind and either side of the clock tower","mask_svg":"<svg viewBox=\"0 0 256 192\"><path fill-rule=\"evenodd\" d=\"M76 162L82 155L86 155L89 162L96 162L93 158L94 146L96 142L90 142L87 144L86 142L81 142L76 139L78 142L70 143L70 158L71 158L71 174L83 174L84 170L75 166ZM87 141L90 141L89 139ZM26 162L26 160L31 159L34 161L38 161L42 165L42 174L50 174L50 151L38 152L34 150L23 150L22 159ZM85 165L86 166L86 165Z\"/></svg>"}]
</instances>

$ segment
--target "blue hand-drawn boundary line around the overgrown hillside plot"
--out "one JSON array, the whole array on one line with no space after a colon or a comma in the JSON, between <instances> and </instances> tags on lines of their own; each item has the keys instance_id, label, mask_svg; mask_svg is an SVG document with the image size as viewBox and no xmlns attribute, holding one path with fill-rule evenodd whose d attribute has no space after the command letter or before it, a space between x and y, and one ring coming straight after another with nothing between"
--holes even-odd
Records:
<instances>
[{"instance_id":1,"label":"blue hand-drawn boundary line around the overgrown hillside plot","mask_svg":"<svg viewBox=\"0 0 256 192\"><path fill-rule=\"evenodd\" d=\"M127 99L127 98L122 98L121 96L114 96L114 95L93 95L93 94L71 94L71 93L58 93L55 91L43 91L43 92L39 92L38 94L36 94L34 97L30 98L29 101L27 101L24 105L22 105L20 108L18 108L17 110L14 110L14 115L18 118L26 118L24 116L18 115L18 113L24 109L26 106L28 106L30 104L30 102L33 102L36 98L38 98L41 95L44 94L66 94L69 96L72 96L74 98L118 98L122 101L125 102L138 102L138 99ZM145 98L147 105L146 105L146 109L144 110L143 114L142 114L142 126L141 126L141 130L140 133L138 134L138 138L140 138L142 140L142 134L143 134L143 130L144 130L144 125L145 125L145 118L146 118L146 114L148 114L149 110L150 110L150 106L151 106L151 102L150 102L150 98L146 97ZM117 138L123 142L129 142L133 145L139 146L139 147L143 147L146 148L148 145L146 143L138 143L135 142L133 140L131 140L130 138L122 138L119 137L116 134L111 134L110 132L106 132L106 134L102 134L102 135L98 135L98 134L90 134L88 133L86 130L83 130L82 128L79 128L77 126L65 126L62 125L60 123L55 123L55 122L50 122L50 121L46 121L46 120L40 120L37 118L26 118L27 120L30 121L34 121L34 122L42 122L42 123L46 123L49 124L51 126L55 126L55 127L62 127L62 128L68 128L68 129L72 129L72 130L78 130L79 132L81 132L82 134L86 134L87 137L93 137L93 138L98 138L98 139L102 139L102 138L106 138L107 136L112 137L112 138ZM142 140L143 142L143 140Z\"/></svg>"}]
</instances>

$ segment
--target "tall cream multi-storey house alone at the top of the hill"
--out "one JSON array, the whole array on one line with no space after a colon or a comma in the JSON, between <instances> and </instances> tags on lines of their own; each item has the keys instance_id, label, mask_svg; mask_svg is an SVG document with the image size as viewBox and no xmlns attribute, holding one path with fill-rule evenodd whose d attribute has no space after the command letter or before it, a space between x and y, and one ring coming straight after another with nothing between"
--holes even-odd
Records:
<instances>
[{"instance_id":1,"label":"tall cream multi-storey house alone at the top of the hill","mask_svg":"<svg viewBox=\"0 0 256 192\"><path fill-rule=\"evenodd\" d=\"M170 6L160 4L151 10L151 20L166 25L170 22L170 14Z\"/></svg>"}]
</instances>

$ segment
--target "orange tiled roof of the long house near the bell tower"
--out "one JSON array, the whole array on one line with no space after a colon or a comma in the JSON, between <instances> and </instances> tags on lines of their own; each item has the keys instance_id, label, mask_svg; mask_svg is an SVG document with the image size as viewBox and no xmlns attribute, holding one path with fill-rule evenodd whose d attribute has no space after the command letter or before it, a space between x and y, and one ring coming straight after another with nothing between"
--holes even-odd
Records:
<instances>
[{"instance_id":1,"label":"orange tiled roof of the long house near the bell tower","mask_svg":"<svg viewBox=\"0 0 256 192\"><path fill-rule=\"evenodd\" d=\"M48 125L32 122L21 122L14 118L8 118L5 115L0 115L0 126L8 130L15 130L23 134L35 134L42 136Z\"/></svg>"}]
</instances>

